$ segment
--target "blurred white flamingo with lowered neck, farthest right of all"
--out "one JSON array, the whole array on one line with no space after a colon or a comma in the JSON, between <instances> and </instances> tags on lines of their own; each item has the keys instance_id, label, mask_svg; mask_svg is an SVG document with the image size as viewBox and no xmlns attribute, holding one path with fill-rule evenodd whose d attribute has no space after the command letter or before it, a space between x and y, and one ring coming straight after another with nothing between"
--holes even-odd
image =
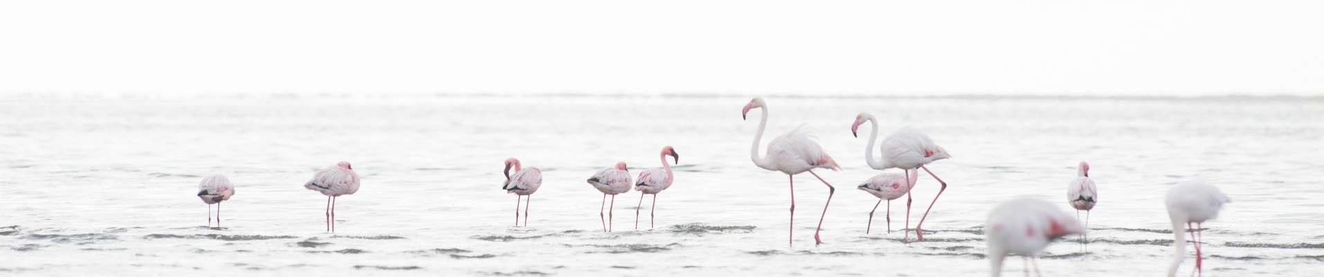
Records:
<instances>
[{"instance_id":1,"label":"blurred white flamingo with lowered neck, farthest right of all","mask_svg":"<svg viewBox=\"0 0 1324 277\"><path fill-rule=\"evenodd\" d=\"M1181 260L1186 258L1186 232L1190 232L1192 244L1196 245L1196 272L1204 276L1200 268L1204 260L1200 252L1200 224L1218 217L1218 209L1222 209L1225 203L1231 201L1227 195L1218 191L1218 187L1204 182L1184 182L1172 186L1166 203L1168 217L1172 219L1172 235L1174 236L1172 245L1176 248L1176 256L1172 258L1172 265L1168 266L1168 277L1176 276ZM1190 228L1192 223L1196 224L1196 228ZM1181 228L1182 224L1186 224L1185 231Z\"/></svg>"}]
</instances>

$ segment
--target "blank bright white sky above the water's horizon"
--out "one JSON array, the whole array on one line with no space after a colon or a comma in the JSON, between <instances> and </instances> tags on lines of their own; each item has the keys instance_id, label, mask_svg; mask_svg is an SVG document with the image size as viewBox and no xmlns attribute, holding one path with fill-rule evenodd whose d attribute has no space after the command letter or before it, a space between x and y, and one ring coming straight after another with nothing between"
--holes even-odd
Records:
<instances>
[{"instance_id":1,"label":"blank bright white sky above the water's horizon","mask_svg":"<svg viewBox=\"0 0 1324 277\"><path fill-rule=\"evenodd\" d=\"M0 1L0 93L1324 95L1324 1Z\"/></svg>"}]
</instances>

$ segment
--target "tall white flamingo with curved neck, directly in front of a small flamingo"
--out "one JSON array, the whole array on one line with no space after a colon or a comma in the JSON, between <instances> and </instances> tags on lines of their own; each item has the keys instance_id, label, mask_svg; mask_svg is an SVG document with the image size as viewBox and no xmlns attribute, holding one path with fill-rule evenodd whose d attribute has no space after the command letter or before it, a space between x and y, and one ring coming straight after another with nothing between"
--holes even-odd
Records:
<instances>
[{"instance_id":1,"label":"tall white flamingo with curved neck, directly in front of a small flamingo","mask_svg":"<svg viewBox=\"0 0 1324 277\"><path fill-rule=\"evenodd\" d=\"M933 176L939 184L943 184L943 187L937 190L937 195L933 196L933 201L928 203L928 209L924 209L924 216L919 219L919 224L915 224L915 236L919 236L919 240L923 241L924 233L922 227L924 225L924 219L927 219L928 212L933 209L933 204L937 203L937 197L943 196L943 191L947 191L947 182L943 182L941 178L933 175L933 171L929 171L928 167L924 167L924 164L952 158L952 155L947 154L947 150L941 146L933 143L933 139L929 139L924 133L911 127L902 127L896 129L896 131L892 131L892 134L883 139L883 144L879 147L883 156L875 160L874 142L878 140L878 119L874 118L873 114L859 113L859 115L855 117L855 123L850 126L850 134L859 138L859 125L863 125L866 121L874 127L869 135L869 144L865 146L865 162L869 163L869 167L874 170L887 170L894 167L902 168L907 172L906 175L910 175L911 170L923 168L924 172ZM915 188L915 184L911 183L908 187ZM910 225L910 205L912 200L914 199L911 199L910 194L906 194L907 227ZM906 229L906 240L908 239L910 231Z\"/></svg>"}]
</instances>

